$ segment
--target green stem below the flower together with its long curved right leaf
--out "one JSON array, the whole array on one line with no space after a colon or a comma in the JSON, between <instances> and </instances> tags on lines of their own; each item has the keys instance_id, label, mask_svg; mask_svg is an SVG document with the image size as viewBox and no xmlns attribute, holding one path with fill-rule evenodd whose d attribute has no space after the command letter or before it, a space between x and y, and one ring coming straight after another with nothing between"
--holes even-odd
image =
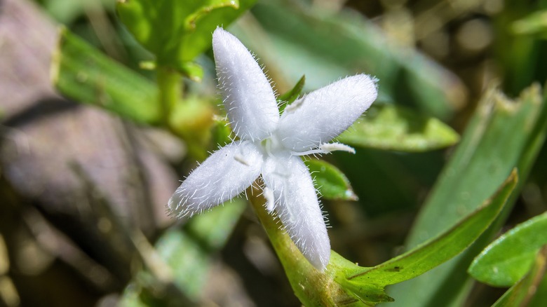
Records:
<instances>
[{"instance_id":1,"label":"green stem below the flower together with its long curved right leaf","mask_svg":"<svg viewBox=\"0 0 547 307\"><path fill-rule=\"evenodd\" d=\"M363 268L331 251L324 272L317 271L302 256L288 234L266 212L264 200L252 196L251 203L281 259L292 289L304 306L374 306L393 301L384 292L386 285L414 278L471 245L497 218L516 183L517 172L513 171L492 198L459 224L384 264Z\"/></svg>"}]
</instances>

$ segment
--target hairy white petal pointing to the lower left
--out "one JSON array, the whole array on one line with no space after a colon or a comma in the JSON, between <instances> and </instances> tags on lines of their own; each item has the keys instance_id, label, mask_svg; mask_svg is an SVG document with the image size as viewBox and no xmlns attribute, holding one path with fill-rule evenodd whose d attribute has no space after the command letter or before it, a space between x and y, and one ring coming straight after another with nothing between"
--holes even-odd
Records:
<instances>
[{"instance_id":1,"label":"hairy white petal pointing to the lower left","mask_svg":"<svg viewBox=\"0 0 547 307\"><path fill-rule=\"evenodd\" d=\"M191 172L168 203L170 214L192 216L234 198L260 175L262 153L248 141L215 151Z\"/></svg>"}]
</instances>

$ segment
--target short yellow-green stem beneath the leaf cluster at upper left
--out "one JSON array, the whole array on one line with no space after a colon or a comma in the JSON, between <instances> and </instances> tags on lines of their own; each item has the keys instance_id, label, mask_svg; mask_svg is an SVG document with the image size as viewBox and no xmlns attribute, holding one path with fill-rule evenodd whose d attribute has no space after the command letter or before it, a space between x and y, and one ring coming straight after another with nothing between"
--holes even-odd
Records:
<instances>
[{"instance_id":1,"label":"short yellow-green stem beneath the leaf cluster at upper left","mask_svg":"<svg viewBox=\"0 0 547 307\"><path fill-rule=\"evenodd\" d=\"M180 74L169 67L158 67L157 82L159 88L159 107L163 125L170 127L171 111L182 97L182 82Z\"/></svg>"}]
</instances>

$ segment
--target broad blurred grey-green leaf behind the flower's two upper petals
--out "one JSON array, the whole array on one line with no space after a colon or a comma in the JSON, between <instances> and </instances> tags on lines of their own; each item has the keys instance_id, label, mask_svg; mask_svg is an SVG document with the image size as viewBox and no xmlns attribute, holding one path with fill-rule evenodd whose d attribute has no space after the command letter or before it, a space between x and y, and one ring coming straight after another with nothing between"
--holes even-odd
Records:
<instances>
[{"instance_id":1,"label":"broad blurred grey-green leaf behind the flower's two upper petals","mask_svg":"<svg viewBox=\"0 0 547 307\"><path fill-rule=\"evenodd\" d=\"M283 71L281 76L274 71L276 79L305 74L310 90L366 71L380 80L379 100L410 104L440 118L450 117L459 103L451 92L460 84L450 72L411 48L390 43L360 15L350 11L332 15L290 1L264 1L252 13L256 20L245 20L232 30L268 67ZM254 39L259 34L257 24L269 34L267 38Z\"/></svg>"}]
</instances>

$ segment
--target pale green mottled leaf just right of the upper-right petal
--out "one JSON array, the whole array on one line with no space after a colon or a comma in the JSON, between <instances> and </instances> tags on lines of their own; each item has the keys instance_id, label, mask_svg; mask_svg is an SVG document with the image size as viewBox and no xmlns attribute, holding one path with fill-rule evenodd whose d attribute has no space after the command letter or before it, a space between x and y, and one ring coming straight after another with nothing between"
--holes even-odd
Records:
<instances>
[{"instance_id":1,"label":"pale green mottled leaf just right of the upper-right petal","mask_svg":"<svg viewBox=\"0 0 547 307\"><path fill-rule=\"evenodd\" d=\"M436 118L403 107L378 104L337 139L344 144L374 149L428 151L452 146L459 135Z\"/></svg>"}]
</instances>

